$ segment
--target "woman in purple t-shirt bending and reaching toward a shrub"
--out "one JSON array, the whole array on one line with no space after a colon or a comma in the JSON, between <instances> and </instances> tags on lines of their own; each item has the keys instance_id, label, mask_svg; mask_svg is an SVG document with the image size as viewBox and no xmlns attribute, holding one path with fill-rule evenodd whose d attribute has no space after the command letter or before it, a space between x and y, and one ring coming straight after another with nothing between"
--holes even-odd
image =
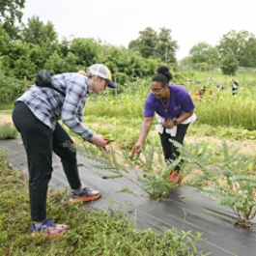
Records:
<instances>
[{"instance_id":1,"label":"woman in purple t-shirt bending and reaching toward a shrub","mask_svg":"<svg viewBox=\"0 0 256 256\"><path fill-rule=\"evenodd\" d=\"M152 126L155 112L157 120L163 121L162 126L157 130L160 135L161 145L165 161L175 160L179 155L177 148L169 141L175 140L181 144L184 143L186 129L190 122L193 122L192 116L194 104L186 89L180 85L169 85L173 76L166 66L159 66L156 75L152 78L152 93L146 100L144 109L144 119L140 128L138 142L133 146L130 155L138 153L148 135ZM176 166L175 171L171 173L170 182L175 182L179 174L180 167ZM179 184L182 178L179 179Z\"/></svg>"}]
</instances>

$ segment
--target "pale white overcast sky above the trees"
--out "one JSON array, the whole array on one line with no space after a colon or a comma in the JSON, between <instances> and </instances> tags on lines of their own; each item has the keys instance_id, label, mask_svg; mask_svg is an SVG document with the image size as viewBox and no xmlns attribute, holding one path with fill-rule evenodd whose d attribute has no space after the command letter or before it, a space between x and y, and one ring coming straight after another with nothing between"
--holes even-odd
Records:
<instances>
[{"instance_id":1,"label":"pale white overcast sky above the trees","mask_svg":"<svg viewBox=\"0 0 256 256\"><path fill-rule=\"evenodd\" d=\"M172 30L177 58L196 43L215 45L231 30L256 35L256 0L26 0L23 22L32 15L50 20L62 37L95 38L125 45L152 27Z\"/></svg>"}]
</instances>

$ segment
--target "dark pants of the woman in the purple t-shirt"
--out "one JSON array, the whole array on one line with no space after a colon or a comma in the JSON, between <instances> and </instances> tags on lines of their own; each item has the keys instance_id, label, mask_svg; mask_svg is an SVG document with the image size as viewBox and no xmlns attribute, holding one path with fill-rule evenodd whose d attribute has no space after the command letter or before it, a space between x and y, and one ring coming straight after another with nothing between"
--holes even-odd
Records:
<instances>
[{"instance_id":1,"label":"dark pants of the woman in the purple t-shirt","mask_svg":"<svg viewBox=\"0 0 256 256\"><path fill-rule=\"evenodd\" d=\"M186 129L188 128L188 125L180 124L177 127L177 133L176 136L173 137L171 134L165 132L165 128L163 129L162 134L159 133L160 139L161 139L161 146L163 150L163 155L165 158L165 161L168 160L175 160L178 156L180 156L180 152L177 150L177 148L169 141L169 139L175 140L181 144L184 144L184 138ZM176 166L175 170L177 172L180 171L180 166Z\"/></svg>"}]
</instances>

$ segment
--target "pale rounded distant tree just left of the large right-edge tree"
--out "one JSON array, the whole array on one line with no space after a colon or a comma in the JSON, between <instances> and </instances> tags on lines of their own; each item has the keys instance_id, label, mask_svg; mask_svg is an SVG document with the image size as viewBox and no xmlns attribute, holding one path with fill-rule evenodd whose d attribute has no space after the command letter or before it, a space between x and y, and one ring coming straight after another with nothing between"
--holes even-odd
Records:
<instances>
[{"instance_id":1,"label":"pale rounded distant tree just left of the large right-edge tree","mask_svg":"<svg viewBox=\"0 0 256 256\"><path fill-rule=\"evenodd\" d=\"M189 57L192 64L196 63L218 63L218 52L212 45L202 42L197 43L189 50Z\"/></svg>"}]
</instances>

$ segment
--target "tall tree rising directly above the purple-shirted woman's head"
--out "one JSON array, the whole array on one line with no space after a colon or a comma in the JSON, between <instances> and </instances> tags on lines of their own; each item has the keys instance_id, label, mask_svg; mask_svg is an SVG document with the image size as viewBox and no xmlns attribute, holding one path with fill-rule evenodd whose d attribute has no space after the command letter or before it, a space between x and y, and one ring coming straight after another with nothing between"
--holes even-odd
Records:
<instances>
[{"instance_id":1,"label":"tall tree rising directly above the purple-shirted woman's head","mask_svg":"<svg viewBox=\"0 0 256 256\"><path fill-rule=\"evenodd\" d=\"M144 58L160 58L163 62L176 62L175 53L179 49L176 41L172 40L171 30L160 28L159 34L151 28L139 32L138 39L128 43L128 48L137 50Z\"/></svg>"}]
</instances>

